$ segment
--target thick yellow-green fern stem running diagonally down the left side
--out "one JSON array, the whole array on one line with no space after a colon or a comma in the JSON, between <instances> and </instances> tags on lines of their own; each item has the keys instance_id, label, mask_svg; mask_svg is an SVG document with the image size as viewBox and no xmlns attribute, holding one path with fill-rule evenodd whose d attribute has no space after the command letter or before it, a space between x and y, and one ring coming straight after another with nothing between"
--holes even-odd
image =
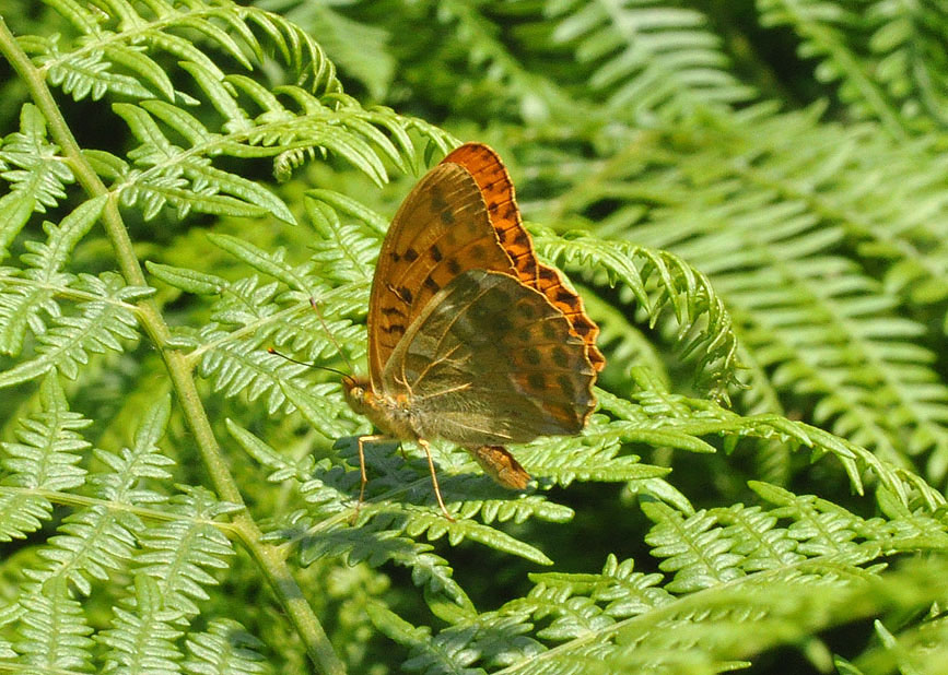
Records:
<instances>
[{"instance_id":1,"label":"thick yellow-green fern stem running diagonally down the left side","mask_svg":"<svg viewBox=\"0 0 948 675\"><path fill-rule=\"evenodd\" d=\"M83 157L79 143L60 114L52 93L46 86L44 71L33 66L33 62L20 48L16 38L8 28L2 16L0 16L0 52L23 79L34 104L43 111L49 125L51 138L59 144L63 156L85 192L90 197L102 194L109 197L103 211L102 224L115 250L119 270L129 285L147 286L144 272L134 254L132 241L118 210L117 196L109 194L108 188ZM165 363L177 393L178 403L191 433L195 435L195 441L218 496L226 501L244 506L244 499L236 481L231 475L221 447L214 438L210 419L191 377L188 360L180 352L166 346L171 331L157 304L150 298L142 299L137 304L136 313L141 327ZM313 608L306 602L303 590L291 575L283 553L278 547L264 544L260 541L262 532L246 508L234 513L233 526L238 540L260 566L279 602L293 621L296 631L306 644L309 658L324 673L343 674L346 666L332 649L332 644Z\"/></svg>"}]
</instances>

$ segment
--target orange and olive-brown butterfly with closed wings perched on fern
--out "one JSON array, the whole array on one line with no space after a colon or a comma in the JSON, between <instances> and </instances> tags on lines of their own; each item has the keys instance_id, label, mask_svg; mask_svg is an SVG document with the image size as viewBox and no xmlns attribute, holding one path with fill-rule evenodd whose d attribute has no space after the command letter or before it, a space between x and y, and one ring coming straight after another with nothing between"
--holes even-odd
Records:
<instances>
[{"instance_id":1,"label":"orange and olive-brown butterfly with closed wings perched on fern","mask_svg":"<svg viewBox=\"0 0 948 675\"><path fill-rule=\"evenodd\" d=\"M480 143L461 145L402 202L378 256L368 300L368 377L343 378L349 406L381 431L363 443L414 441L444 505L429 440L457 443L499 484L529 474L506 450L574 435L596 406L606 360L598 327L560 273L540 263L510 175Z\"/></svg>"}]
</instances>

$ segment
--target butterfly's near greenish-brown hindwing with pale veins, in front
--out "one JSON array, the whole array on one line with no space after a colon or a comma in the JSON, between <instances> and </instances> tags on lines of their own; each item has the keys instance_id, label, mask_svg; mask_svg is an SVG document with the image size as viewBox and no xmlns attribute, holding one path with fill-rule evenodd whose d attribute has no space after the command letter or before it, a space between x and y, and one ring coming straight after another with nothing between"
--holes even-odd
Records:
<instances>
[{"instance_id":1,"label":"butterfly's near greenish-brown hindwing with pale veins, in front","mask_svg":"<svg viewBox=\"0 0 948 675\"><path fill-rule=\"evenodd\" d=\"M429 301L382 386L410 401L422 436L482 446L578 433L595 377L585 343L543 295L469 270Z\"/></svg>"}]
</instances>

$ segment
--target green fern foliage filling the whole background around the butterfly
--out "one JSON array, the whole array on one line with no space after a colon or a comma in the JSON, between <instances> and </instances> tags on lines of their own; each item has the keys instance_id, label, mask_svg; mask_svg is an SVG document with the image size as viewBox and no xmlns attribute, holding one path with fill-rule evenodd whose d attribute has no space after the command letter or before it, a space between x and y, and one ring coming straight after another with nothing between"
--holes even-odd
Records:
<instances>
[{"instance_id":1,"label":"green fern foliage filling the whole background around the butterfly","mask_svg":"<svg viewBox=\"0 0 948 675\"><path fill-rule=\"evenodd\" d=\"M948 673L948 9L0 0L0 672ZM602 329L493 486L368 451L460 140Z\"/></svg>"}]
</instances>

